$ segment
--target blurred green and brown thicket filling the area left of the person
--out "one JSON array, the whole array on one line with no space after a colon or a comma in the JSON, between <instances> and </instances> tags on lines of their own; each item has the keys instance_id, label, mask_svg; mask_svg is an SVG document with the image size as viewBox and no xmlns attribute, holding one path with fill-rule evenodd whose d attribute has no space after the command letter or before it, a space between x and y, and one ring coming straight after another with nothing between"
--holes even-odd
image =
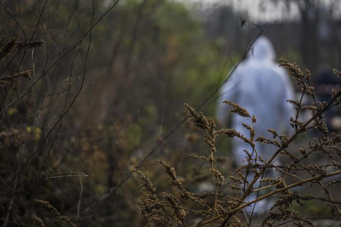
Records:
<instances>
[{"instance_id":1,"label":"blurred green and brown thicket filling the area left of the person","mask_svg":"<svg viewBox=\"0 0 341 227\"><path fill-rule=\"evenodd\" d=\"M111 226L111 218L140 225L135 179L103 205L98 198L162 140L182 117L181 103L198 100L228 70L182 4L115 2L0 3L4 226L68 225L59 217L76 226ZM181 158L197 138L186 130L174 134L181 143L161 147L165 156ZM60 215L43 212L35 199Z\"/></svg>"}]
</instances>

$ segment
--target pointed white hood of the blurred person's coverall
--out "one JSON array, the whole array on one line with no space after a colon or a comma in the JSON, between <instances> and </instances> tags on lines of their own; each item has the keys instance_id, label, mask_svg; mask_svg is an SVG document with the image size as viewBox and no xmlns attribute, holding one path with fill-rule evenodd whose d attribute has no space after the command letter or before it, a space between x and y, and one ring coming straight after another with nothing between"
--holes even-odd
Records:
<instances>
[{"instance_id":1,"label":"pointed white hood of the blurred person's coverall","mask_svg":"<svg viewBox=\"0 0 341 227\"><path fill-rule=\"evenodd\" d=\"M276 59L276 52L271 41L265 36L260 36L252 44L247 53L247 59L274 61Z\"/></svg>"}]
</instances>

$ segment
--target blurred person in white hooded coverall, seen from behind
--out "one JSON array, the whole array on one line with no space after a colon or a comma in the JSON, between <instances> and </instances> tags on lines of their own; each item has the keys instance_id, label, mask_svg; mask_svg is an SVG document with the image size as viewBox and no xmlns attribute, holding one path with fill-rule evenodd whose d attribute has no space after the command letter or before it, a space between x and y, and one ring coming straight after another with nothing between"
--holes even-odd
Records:
<instances>
[{"instance_id":1,"label":"blurred person in white hooded coverall, seen from behind","mask_svg":"<svg viewBox=\"0 0 341 227\"><path fill-rule=\"evenodd\" d=\"M275 58L276 53L270 40L265 36L259 37L247 53L246 59L239 64L220 90L216 111L218 122L225 126L229 120L231 128L249 137L249 131L242 126L242 123L250 125L250 119L236 114L231 115L229 106L223 103L228 100L246 108L250 116L256 116L257 122L253 125L256 132L255 139L261 135L272 139L273 136L267 131L268 128L275 129L279 135L291 128L290 117L294 116L295 112L293 106L286 100L293 99L293 86L285 70L274 61ZM265 160L268 160L277 150L274 145L262 145L258 142L255 148L258 155ZM247 164L242 163L246 159L244 150L252 153L250 145L237 137L232 138L232 155L237 166ZM276 159L274 162L279 164ZM247 180L251 182L253 176L249 174ZM265 176L275 178L276 172L270 171L265 173ZM254 185L254 189L258 187L259 184ZM257 193L252 193L246 200L251 201L256 196ZM264 213L271 205L268 201L259 201L254 212ZM252 211L252 207L246 210Z\"/></svg>"}]
</instances>

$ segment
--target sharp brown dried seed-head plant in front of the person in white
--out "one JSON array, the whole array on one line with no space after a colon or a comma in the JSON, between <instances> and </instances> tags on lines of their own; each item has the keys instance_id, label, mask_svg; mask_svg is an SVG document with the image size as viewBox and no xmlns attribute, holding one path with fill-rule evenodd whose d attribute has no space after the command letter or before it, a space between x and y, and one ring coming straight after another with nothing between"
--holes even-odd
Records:
<instances>
[{"instance_id":1,"label":"sharp brown dried seed-head plant in front of the person in white","mask_svg":"<svg viewBox=\"0 0 341 227\"><path fill-rule=\"evenodd\" d=\"M301 217L295 210L293 204L296 202L303 205L308 200L319 200L326 203L326 208L330 209L330 219L339 219L341 216L340 202L335 201L330 189L341 182L340 178L330 180L331 176L341 174L341 135L329 133L323 119L323 113L336 106L341 105L341 90L331 91L330 102L316 101L314 87L310 85L311 73L309 70L304 72L295 64L286 60L279 60L280 66L288 70L288 74L301 87L302 97L300 100L287 100L296 109L295 116L291 117L291 126L295 129L293 135L278 135L273 129L268 129L273 135L274 140L259 136L255 138L256 132L253 124L256 117L250 116L248 111L230 101L226 101L231 106L231 112L242 117L251 119L250 125L243 124L249 130L249 135L242 135L240 132L231 128L216 129L215 122L208 120L202 112L197 112L193 107L185 104L185 107L192 116L189 121L206 132L205 142L209 146L209 153L206 156L191 155L189 158L206 161L209 163L209 172L215 183L214 192L193 193L189 192L184 186L184 182L176 175L175 169L168 163L158 160L163 166L164 171L169 176L170 184L177 189L177 193L158 192L152 185L148 175L137 171L142 180L140 189L147 192L137 203L137 208L145 216L147 224L158 223L167 226L250 226L253 221L252 214L245 212L245 208L260 200L268 197L275 197L276 203L270 211L263 217L257 219L262 226L274 226L285 223L292 223L295 226L314 226L314 217ZM334 73L341 77L341 72L334 70ZM303 105L303 96L310 96L312 103ZM308 110L311 117L306 122L301 122L299 116L303 110ZM261 122L259 122L261 123ZM289 149L290 144L302 133L316 129L319 136L308 142L308 148L299 148L297 152ZM215 140L217 136L227 136L229 138L238 137L252 148L252 154L245 150L246 163L239 166L234 175L229 176L229 182L221 173L215 154L217 148ZM273 144L277 147L272 157L268 160L263 159L257 153L255 143ZM291 148L291 147L290 147ZM256 154L256 158L254 158ZM313 163L317 156L323 155L322 164ZM278 157L286 157L288 160L285 165L275 165L273 160ZM332 168L331 168L332 167ZM274 169L280 176L276 178L263 177L268 169ZM333 169L331 172L330 169ZM253 179L249 181L249 177ZM304 178L302 178L304 176ZM182 179L182 178L181 178ZM329 180L329 182L327 182ZM256 182L261 182L261 187L255 189ZM302 194L292 191L293 188L303 184L317 185L325 196ZM264 186L266 185L266 186ZM247 201L246 197L251 193L264 192L252 201ZM282 221L282 223L281 223ZM176 224L175 224L176 223Z\"/></svg>"}]
</instances>

